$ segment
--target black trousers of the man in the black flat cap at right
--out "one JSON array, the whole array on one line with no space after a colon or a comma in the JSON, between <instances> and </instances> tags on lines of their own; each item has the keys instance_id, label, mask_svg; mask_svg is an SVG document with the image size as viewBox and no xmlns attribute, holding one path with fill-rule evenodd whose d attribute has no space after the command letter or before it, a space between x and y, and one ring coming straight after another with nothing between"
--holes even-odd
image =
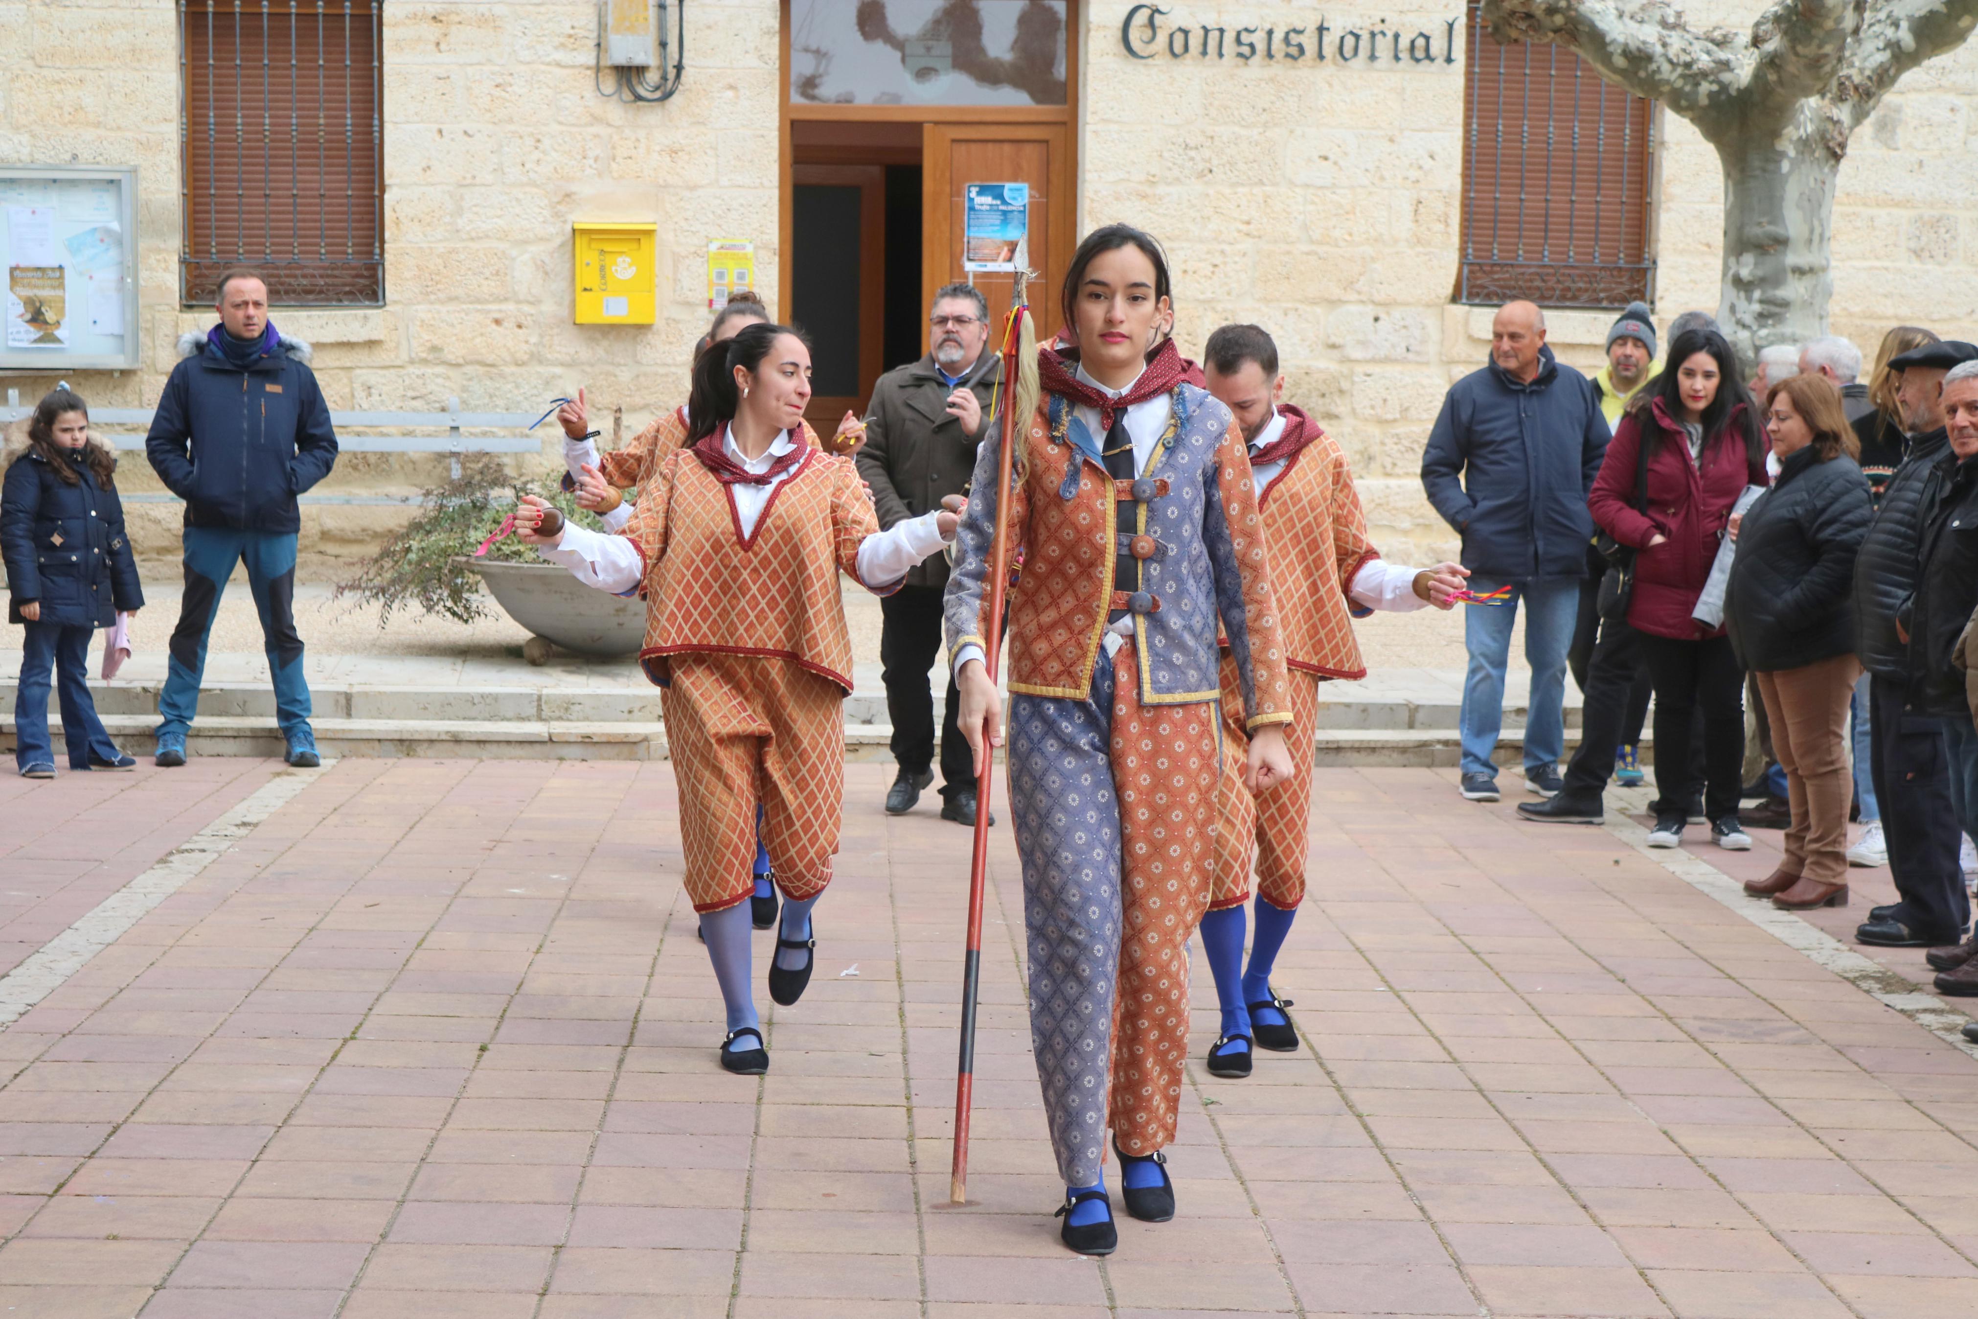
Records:
<instances>
[{"instance_id":1,"label":"black trousers of the man in the black flat cap at right","mask_svg":"<svg viewBox=\"0 0 1978 1319\"><path fill-rule=\"evenodd\" d=\"M1873 674L1869 700L1869 769L1881 803L1881 836L1895 880L1895 920L1934 943L1956 943L1970 920L1958 868L1958 813L1950 801L1950 753L1944 722L1917 714L1905 682Z\"/></svg>"}]
</instances>

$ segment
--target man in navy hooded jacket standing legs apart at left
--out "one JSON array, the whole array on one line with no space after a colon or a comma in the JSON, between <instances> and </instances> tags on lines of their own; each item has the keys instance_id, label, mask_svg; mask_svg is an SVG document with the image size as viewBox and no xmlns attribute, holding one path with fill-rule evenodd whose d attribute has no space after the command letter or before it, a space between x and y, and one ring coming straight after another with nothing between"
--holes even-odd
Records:
<instances>
[{"instance_id":1,"label":"man in navy hooded jacket standing legs apart at left","mask_svg":"<svg viewBox=\"0 0 1978 1319\"><path fill-rule=\"evenodd\" d=\"M267 281L253 271L220 277L220 324L178 340L152 413L144 457L172 494L186 500L186 595L172 631L158 694L158 763L186 763L186 732L200 708L206 639L235 564L261 613L267 666L275 678L275 722L291 765L315 767L303 639L295 633L295 542L303 530L295 496L330 475L336 433L322 401L309 344L267 318Z\"/></svg>"}]
</instances>

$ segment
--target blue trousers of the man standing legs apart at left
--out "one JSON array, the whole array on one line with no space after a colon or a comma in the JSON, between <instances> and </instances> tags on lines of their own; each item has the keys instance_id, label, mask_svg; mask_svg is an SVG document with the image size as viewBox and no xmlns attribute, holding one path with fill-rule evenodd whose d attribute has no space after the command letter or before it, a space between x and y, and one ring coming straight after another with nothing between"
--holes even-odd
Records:
<instances>
[{"instance_id":1,"label":"blue trousers of the man standing legs apart at left","mask_svg":"<svg viewBox=\"0 0 1978 1319\"><path fill-rule=\"evenodd\" d=\"M303 678L303 639L295 635L295 532L241 532L188 526L186 597L172 629L164 690L158 692L158 738L184 740L200 712L206 637L233 564L247 564L247 589L261 613L267 668L275 680L275 722L289 742L309 738L309 680Z\"/></svg>"}]
</instances>

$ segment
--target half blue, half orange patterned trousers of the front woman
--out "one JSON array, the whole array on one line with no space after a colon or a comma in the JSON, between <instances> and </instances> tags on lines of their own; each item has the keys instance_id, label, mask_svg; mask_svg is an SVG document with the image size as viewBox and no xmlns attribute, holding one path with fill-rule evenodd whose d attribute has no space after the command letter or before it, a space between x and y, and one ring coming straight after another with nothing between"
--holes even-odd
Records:
<instances>
[{"instance_id":1,"label":"half blue, half orange patterned trousers of the front woman","mask_svg":"<svg viewBox=\"0 0 1978 1319\"><path fill-rule=\"evenodd\" d=\"M1133 645L1102 649L1084 700L1011 698L1009 797L1050 1145L1064 1183L1090 1187L1108 1129L1129 1155L1175 1139L1216 706L1143 706Z\"/></svg>"}]
</instances>

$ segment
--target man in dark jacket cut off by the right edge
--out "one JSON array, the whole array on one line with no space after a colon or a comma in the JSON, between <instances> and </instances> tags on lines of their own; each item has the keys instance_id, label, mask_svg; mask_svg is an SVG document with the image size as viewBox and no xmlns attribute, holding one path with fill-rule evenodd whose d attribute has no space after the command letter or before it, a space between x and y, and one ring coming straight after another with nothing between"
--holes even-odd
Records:
<instances>
[{"instance_id":1,"label":"man in dark jacket cut off by the right edge","mask_svg":"<svg viewBox=\"0 0 1978 1319\"><path fill-rule=\"evenodd\" d=\"M1917 698L1927 714L1942 716L1950 761L1950 803L1958 827L1978 831L1978 730L1972 728L1964 670L1956 666L1958 635L1978 607L1978 362L1962 362L1944 376L1944 425L1950 449L1934 463L1936 504L1917 546L1917 593L1899 611L1909 633ZM1964 898L1958 886L1956 898ZM1964 912L1962 918L1970 914ZM1962 927L1960 931L1962 933ZM1978 945L1946 939L1950 947L1927 953L1946 975L1936 987L1950 995L1978 995Z\"/></svg>"}]
</instances>

